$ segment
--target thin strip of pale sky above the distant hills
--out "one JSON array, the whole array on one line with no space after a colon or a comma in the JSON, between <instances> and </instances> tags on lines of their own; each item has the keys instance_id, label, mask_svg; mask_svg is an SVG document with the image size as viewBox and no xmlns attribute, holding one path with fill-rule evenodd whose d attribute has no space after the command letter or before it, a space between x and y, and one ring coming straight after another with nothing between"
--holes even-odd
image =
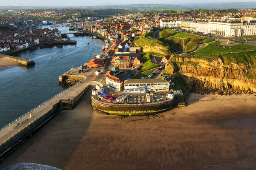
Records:
<instances>
[{"instance_id":1,"label":"thin strip of pale sky above the distant hills","mask_svg":"<svg viewBox=\"0 0 256 170\"><path fill-rule=\"evenodd\" d=\"M231 2L255 2L255 0L0 0L0 6L100 6L100 5L123 5L138 3L159 3L174 5L189 5L201 3L231 3Z\"/></svg>"}]
</instances>

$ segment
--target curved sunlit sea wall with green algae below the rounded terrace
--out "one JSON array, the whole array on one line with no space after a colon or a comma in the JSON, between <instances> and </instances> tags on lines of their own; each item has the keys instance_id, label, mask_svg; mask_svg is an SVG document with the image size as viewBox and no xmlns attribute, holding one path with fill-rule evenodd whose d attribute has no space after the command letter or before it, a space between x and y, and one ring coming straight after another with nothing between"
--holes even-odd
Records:
<instances>
[{"instance_id":1,"label":"curved sunlit sea wall with green algae below the rounded terrace","mask_svg":"<svg viewBox=\"0 0 256 170\"><path fill-rule=\"evenodd\" d=\"M174 107L174 100L167 99L160 102L119 104L104 102L97 99L97 95L91 98L91 105L94 109L104 111L113 115L137 116L150 115L168 111Z\"/></svg>"}]
</instances>

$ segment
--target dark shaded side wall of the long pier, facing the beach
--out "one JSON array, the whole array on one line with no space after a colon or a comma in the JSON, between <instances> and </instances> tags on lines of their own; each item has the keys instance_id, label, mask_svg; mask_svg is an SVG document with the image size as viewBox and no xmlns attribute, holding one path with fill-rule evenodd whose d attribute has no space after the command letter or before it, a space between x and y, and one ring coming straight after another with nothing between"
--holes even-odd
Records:
<instances>
[{"instance_id":1,"label":"dark shaded side wall of the long pier, facing the beach","mask_svg":"<svg viewBox=\"0 0 256 170\"><path fill-rule=\"evenodd\" d=\"M79 102L84 97L84 94L88 90L90 85L87 85L80 93L78 93L73 99L68 100L59 100L59 102L52 105L52 107L42 113L39 116L32 117L32 121L23 125L21 129L17 129L16 133L13 133L3 142L0 142L0 161L2 161L6 156L12 153L17 147L20 146L23 142L26 141L32 134L49 122L52 117L54 117L62 109L73 109L78 105ZM22 123L21 123L22 124Z\"/></svg>"}]
</instances>

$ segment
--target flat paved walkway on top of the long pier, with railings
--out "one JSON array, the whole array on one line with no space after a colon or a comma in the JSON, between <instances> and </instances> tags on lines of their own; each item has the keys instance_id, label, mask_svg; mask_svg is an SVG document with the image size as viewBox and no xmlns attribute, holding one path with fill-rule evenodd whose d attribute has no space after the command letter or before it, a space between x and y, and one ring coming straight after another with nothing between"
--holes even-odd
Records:
<instances>
[{"instance_id":1,"label":"flat paved walkway on top of the long pier, with railings","mask_svg":"<svg viewBox=\"0 0 256 170\"><path fill-rule=\"evenodd\" d=\"M57 104L61 99L74 99L88 85L88 81L84 81L77 85L74 85L72 88L67 89L63 93L60 93L57 96L54 96L53 98L49 99L49 101L42 103L41 105L39 105L39 107L36 107L35 110L32 109L32 111L30 111L25 116L21 116L20 119L16 119L17 121L13 123L11 122L12 124L0 130L0 145L8 141L10 138L12 138L12 136L15 136L15 134L23 130L36 119L43 116L44 113L47 113L47 111L49 111L52 108L52 106Z\"/></svg>"}]
</instances>

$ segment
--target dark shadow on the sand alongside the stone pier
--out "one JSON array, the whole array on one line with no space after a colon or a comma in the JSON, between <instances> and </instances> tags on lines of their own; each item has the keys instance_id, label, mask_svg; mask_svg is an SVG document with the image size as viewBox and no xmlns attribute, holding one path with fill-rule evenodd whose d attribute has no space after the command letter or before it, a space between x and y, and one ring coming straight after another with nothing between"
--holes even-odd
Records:
<instances>
[{"instance_id":1,"label":"dark shadow on the sand alongside the stone pier","mask_svg":"<svg viewBox=\"0 0 256 170\"><path fill-rule=\"evenodd\" d=\"M84 98L91 96L91 86ZM74 110L62 110L44 127L0 163L0 169L20 162L63 169L86 135L93 116L90 100L82 100Z\"/></svg>"}]
</instances>

